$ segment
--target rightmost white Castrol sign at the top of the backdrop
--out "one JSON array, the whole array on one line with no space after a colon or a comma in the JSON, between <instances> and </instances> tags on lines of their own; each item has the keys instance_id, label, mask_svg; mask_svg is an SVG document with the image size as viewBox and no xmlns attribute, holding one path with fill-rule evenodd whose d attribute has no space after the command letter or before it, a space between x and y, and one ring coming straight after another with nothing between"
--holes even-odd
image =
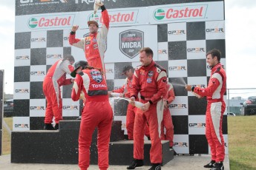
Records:
<instances>
[{"instance_id":1,"label":"rightmost white Castrol sign at the top of the backdrop","mask_svg":"<svg viewBox=\"0 0 256 170\"><path fill-rule=\"evenodd\" d=\"M223 1L151 6L148 9L150 24L184 21L223 20ZM217 12L216 12L217 11Z\"/></svg>"}]
</instances>

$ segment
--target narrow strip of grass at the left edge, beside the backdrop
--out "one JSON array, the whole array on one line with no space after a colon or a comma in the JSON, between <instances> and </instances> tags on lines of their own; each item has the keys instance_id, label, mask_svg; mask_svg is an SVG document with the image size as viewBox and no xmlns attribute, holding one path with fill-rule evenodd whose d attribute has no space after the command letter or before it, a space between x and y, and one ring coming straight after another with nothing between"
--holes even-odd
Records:
<instances>
[{"instance_id":1,"label":"narrow strip of grass at the left edge, beside the backdrop","mask_svg":"<svg viewBox=\"0 0 256 170\"><path fill-rule=\"evenodd\" d=\"M9 128L13 129L13 118L4 118L5 123ZM3 129L3 143L2 143L2 152L3 154L10 154L10 135L7 132L7 129Z\"/></svg>"}]
</instances>

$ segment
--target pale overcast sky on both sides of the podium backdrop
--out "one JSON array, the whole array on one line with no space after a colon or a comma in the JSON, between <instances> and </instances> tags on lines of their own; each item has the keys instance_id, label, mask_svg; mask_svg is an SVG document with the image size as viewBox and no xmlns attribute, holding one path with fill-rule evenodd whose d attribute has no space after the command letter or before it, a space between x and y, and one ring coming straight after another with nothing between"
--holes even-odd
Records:
<instances>
[{"instance_id":1,"label":"pale overcast sky on both sides of the podium backdrop","mask_svg":"<svg viewBox=\"0 0 256 170\"><path fill-rule=\"evenodd\" d=\"M0 69L13 94L15 0L0 0L0 15ZM256 1L227 0L225 15L227 88L256 88Z\"/></svg>"}]
</instances>

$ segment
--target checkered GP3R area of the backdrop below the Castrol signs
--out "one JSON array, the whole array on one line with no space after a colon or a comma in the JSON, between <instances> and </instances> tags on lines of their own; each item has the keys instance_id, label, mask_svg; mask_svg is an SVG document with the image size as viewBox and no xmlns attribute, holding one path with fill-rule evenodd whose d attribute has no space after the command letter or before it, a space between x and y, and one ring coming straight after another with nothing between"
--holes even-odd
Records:
<instances>
[{"instance_id":1,"label":"checkered GP3R area of the backdrop below the Castrol signs","mask_svg":"<svg viewBox=\"0 0 256 170\"><path fill-rule=\"evenodd\" d=\"M166 5L168 6L168 4L160 5L159 9L162 7L161 9L166 12ZM180 4L180 6L186 5L188 7L188 4ZM223 5L220 4L220 7ZM147 9L142 8L142 11ZM128 7L123 10L134 10L134 13L136 11L139 13L141 9ZM117 13L116 9L108 11L111 15ZM200 13L200 10L198 11ZM29 15L25 18L26 16L19 18L24 17L26 22ZM128 20L128 15L126 19ZM210 149L205 137L206 99L197 99L191 92L185 90L185 85L207 86L211 72L206 63L206 52L209 50L216 48L222 52L221 63L226 68L224 18L164 21L157 24L151 22L151 19L143 19L147 21L138 19L137 22L140 24L135 26L135 22L123 25L113 23L109 29L105 51L108 90L121 87L125 82L125 75L121 75L122 67L140 65L138 50L141 47L151 47L154 51L154 61L166 69L168 81L174 85L176 98L169 109L174 123L175 151L179 154L209 154ZM83 18L82 21L85 20L86 18ZM19 22L16 21L16 24ZM82 38L88 32L88 27L78 30L76 37ZM71 47L68 43L69 33L70 27L30 31L20 31L16 28L13 130L36 130L44 126L46 101L42 82L52 64L68 54L73 55L76 61L85 60L83 50ZM61 88L65 120L76 119L82 110L81 101L74 102L70 99L71 89L72 84ZM125 128L127 101L110 98L110 102L114 108L114 120L122 120L122 129L127 134ZM223 117L223 134L228 153L226 113Z\"/></svg>"}]
</instances>

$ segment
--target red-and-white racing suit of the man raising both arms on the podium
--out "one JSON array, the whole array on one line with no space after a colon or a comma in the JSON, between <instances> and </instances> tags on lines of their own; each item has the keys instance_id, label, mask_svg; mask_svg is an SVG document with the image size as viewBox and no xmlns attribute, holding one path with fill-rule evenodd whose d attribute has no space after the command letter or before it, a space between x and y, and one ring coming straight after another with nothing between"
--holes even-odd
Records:
<instances>
[{"instance_id":1,"label":"red-and-white racing suit of the man raising both arms on the podium","mask_svg":"<svg viewBox=\"0 0 256 170\"><path fill-rule=\"evenodd\" d=\"M75 47L82 48L85 51L85 58L89 66L101 69L105 72L104 52L107 44L107 35L109 28L108 11L102 12L103 24L99 33L90 33L87 37L79 39L76 34L69 35L69 44Z\"/></svg>"}]
</instances>

